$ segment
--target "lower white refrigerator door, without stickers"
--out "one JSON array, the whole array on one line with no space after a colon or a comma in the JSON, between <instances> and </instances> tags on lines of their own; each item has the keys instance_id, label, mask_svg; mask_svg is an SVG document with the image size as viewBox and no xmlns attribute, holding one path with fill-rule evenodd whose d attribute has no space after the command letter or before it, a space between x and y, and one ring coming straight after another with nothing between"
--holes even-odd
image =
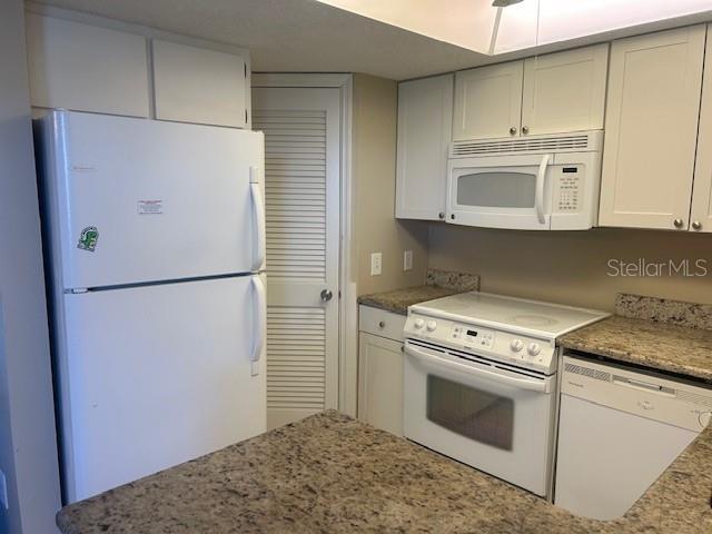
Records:
<instances>
[{"instance_id":1,"label":"lower white refrigerator door, without stickers","mask_svg":"<svg viewBox=\"0 0 712 534\"><path fill-rule=\"evenodd\" d=\"M65 295L69 502L265 432L253 278Z\"/></svg>"}]
</instances>

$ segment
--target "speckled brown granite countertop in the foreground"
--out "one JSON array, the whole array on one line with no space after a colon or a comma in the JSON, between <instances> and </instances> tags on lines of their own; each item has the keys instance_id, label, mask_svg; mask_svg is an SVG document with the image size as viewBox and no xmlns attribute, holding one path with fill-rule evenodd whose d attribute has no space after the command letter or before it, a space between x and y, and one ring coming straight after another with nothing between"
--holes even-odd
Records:
<instances>
[{"instance_id":1,"label":"speckled brown granite countertop in the foreground","mask_svg":"<svg viewBox=\"0 0 712 534\"><path fill-rule=\"evenodd\" d=\"M67 506L63 534L710 534L712 429L615 521L329 411Z\"/></svg>"}]
</instances>

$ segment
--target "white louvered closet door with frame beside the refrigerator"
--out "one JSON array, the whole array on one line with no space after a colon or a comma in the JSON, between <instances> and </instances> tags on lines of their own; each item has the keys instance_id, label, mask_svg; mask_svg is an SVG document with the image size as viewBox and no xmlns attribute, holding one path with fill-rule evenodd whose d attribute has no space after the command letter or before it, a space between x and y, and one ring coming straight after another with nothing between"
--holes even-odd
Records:
<instances>
[{"instance_id":1,"label":"white louvered closet door with frame beside the refrigerator","mask_svg":"<svg viewBox=\"0 0 712 534\"><path fill-rule=\"evenodd\" d=\"M339 91L256 88L253 128L265 132L273 428L337 407Z\"/></svg>"}]
</instances>

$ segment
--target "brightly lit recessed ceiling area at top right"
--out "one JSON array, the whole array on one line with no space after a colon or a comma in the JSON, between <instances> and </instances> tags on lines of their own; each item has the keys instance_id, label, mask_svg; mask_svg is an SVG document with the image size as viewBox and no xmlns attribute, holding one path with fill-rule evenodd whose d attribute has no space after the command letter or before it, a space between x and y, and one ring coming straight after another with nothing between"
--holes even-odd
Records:
<instances>
[{"instance_id":1,"label":"brightly lit recessed ceiling area at top right","mask_svg":"<svg viewBox=\"0 0 712 534\"><path fill-rule=\"evenodd\" d=\"M318 0L481 53L500 55L686 16L710 0Z\"/></svg>"}]
</instances>

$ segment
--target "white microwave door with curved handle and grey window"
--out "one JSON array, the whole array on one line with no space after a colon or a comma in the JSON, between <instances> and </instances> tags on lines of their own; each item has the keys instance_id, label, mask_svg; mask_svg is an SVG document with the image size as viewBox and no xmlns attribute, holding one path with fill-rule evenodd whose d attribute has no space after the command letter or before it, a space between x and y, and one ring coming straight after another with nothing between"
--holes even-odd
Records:
<instances>
[{"instance_id":1,"label":"white microwave door with curved handle and grey window","mask_svg":"<svg viewBox=\"0 0 712 534\"><path fill-rule=\"evenodd\" d=\"M547 230L553 162L551 154L451 159L447 222Z\"/></svg>"}]
</instances>

